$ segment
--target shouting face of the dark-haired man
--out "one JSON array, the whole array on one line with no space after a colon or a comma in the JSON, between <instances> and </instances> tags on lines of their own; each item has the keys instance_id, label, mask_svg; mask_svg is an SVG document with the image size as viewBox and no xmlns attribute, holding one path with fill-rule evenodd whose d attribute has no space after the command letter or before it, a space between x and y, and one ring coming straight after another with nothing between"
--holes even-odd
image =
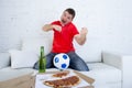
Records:
<instances>
[{"instance_id":1,"label":"shouting face of the dark-haired man","mask_svg":"<svg viewBox=\"0 0 132 88\"><path fill-rule=\"evenodd\" d=\"M67 11L64 11L62 16L61 16L61 22L62 24L67 24L73 21L73 15L69 14Z\"/></svg>"}]
</instances>

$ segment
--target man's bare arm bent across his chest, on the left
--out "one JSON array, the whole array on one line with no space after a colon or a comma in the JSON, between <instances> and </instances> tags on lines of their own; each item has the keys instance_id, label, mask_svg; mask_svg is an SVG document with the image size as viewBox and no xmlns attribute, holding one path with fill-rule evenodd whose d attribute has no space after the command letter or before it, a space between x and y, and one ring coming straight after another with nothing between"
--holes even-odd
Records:
<instances>
[{"instance_id":1,"label":"man's bare arm bent across his chest, on the left","mask_svg":"<svg viewBox=\"0 0 132 88\"><path fill-rule=\"evenodd\" d=\"M45 32L47 32L47 31L51 31L51 30L53 30L53 29L55 29L56 31L62 31L62 26L59 26L59 25L54 25L54 24L45 24L44 26L43 26L43 31L45 31Z\"/></svg>"}]
</instances>

